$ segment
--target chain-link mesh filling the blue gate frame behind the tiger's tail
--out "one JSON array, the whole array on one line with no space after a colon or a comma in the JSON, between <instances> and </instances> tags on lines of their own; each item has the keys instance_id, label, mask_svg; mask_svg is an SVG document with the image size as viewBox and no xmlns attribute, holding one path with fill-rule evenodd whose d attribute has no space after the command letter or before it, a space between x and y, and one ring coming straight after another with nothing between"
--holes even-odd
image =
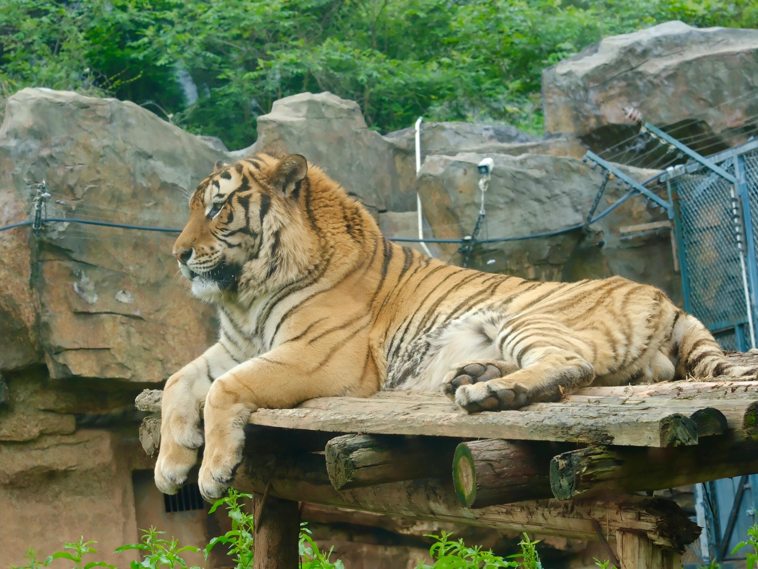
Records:
<instances>
[{"instance_id":1,"label":"chain-link mesh filling the blue gate frame behind the tiger's tail","mask_svg":"<svg viewBox=\"0 0 758 569\"><path fill-rule=\"evenodd\" d=\"M753 191L751 212L758 214L758 151L750 155ZM735 159L720 164L731 174ZM725 349L745 349L736 326L747 322L740 253L731 215L731 184L702 168L672 180L679 196L680 244L687 268L691 312L713 332Z\"/></svg>"}]
</instances>

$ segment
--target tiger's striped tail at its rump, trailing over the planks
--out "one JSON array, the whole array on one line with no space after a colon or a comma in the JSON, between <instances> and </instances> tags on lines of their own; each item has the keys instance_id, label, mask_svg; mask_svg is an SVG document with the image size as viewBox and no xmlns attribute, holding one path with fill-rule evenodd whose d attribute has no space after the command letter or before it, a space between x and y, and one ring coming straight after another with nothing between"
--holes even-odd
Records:
<instances>
[{"instance_id":1,"label":"tiger's striped tail at its rump, trailing over the planks","mask_svg":"<svg viewBox=\"0 0 758 569\"><path fill-rule=\"evenodd\" d=\"M758 366L740 366L729 361L703 322L688 313L679 313L672 333L672 346L678 356L677 375L682 379L747 378L756 376L758 371Z\"/></svg>"}]
</instances>

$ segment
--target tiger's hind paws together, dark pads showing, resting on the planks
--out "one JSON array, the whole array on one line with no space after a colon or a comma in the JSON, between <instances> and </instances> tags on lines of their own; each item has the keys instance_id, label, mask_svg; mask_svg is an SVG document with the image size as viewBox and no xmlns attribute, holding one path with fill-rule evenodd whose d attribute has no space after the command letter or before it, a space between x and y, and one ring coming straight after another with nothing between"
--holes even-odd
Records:
<instances>
[{"instance_id":1,"label":"tiger's hind paws together, dark pads showing, resting on the planks","mask_svg":"<svg viewBox=\"0 0 758 569\"><path fill-rule=\"evenodd\" d=\"M525 388L503 379L518 369L512 363L474 360L453 366L443 391L468 413L518 409L528 404Z\"/></svg>"}]
</instances>

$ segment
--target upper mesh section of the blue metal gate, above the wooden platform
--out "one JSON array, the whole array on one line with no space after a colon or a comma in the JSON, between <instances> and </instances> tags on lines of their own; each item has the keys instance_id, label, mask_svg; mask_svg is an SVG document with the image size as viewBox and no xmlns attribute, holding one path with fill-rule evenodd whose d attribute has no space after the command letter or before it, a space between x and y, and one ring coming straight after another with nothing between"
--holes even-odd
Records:
<instances>
[{"instance_id":1,"label":"upper mesh section of the blue metal gate, above the wooden platform","mask_svg":"<svg viewBox=\"0 0 758 569\"><path fill-rule=\"evenodd\" d=\"M758 141L709 157L735 181L704 165L669 169L684 310L727 350L754 346L758 259Z\"/></svg>"}]
</instances>

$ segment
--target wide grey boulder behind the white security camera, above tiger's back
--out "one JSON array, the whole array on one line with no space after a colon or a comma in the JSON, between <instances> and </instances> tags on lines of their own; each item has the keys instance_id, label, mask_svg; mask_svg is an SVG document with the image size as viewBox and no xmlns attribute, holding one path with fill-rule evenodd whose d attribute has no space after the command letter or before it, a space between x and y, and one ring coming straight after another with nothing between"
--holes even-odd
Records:
<instances>
[{"instance_id":1,"label":"wide grey boulder behind the white security camera, above tiger's back","mask_svg":"<svg viewBox=\"0 0 758 569\"><path fill-rule=\"evenodd\" d=\"M464 152L429 156L421 168L418 190L434 237L462 239L474 230L481 192L477 165L485 156ZM600 188L602 174L581 160L525 154L490 154L495 166L486 194L486 223L478 239L521 237L583 224ZM655 171L624 167L637 181ZM606 187L597 213L624 195L617 181ZM575 281L624 275L681 297L674 272L668 231L627 237L620 228L661 221L640 198L626 200L589 231L493 244L479 244L470 266L540 281ZM458 244L440 246L441 259L461 262ZM644 259L644 262L641 262Z\"/></svg>"}]
</instances>

